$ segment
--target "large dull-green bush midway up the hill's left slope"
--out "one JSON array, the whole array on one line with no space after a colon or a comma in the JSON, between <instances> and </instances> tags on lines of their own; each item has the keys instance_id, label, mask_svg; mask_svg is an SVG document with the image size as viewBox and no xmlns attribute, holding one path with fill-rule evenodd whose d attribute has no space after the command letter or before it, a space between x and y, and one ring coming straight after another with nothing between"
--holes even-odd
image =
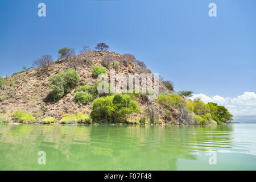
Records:
<instances>
[{"instance_id":1,"label":"large dull-green bush midway up the hill's left slope","mask_svg":"<svg viewBox=\"0 0 256 182\"><path fill-rule=\"evenodd\" d=\"M48 95L49 101L56 102L63 98L65 94L70 93L75 88L79 79L79 75L74 69L68 69L65 72L51 76L49 86L53 90Z\"/></svg>"}]
</instances>

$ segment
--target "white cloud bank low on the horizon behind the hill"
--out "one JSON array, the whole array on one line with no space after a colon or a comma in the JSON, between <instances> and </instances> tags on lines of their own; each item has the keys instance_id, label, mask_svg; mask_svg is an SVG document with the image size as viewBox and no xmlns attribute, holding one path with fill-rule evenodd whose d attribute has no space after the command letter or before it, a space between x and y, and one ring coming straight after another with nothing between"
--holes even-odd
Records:
<instances>
[{"instance_id":1,"label":"white cloud bank low on the horizon behind the hill","mask_svg":"<svg viewBox=\"0 0 256 182\"><path fill-rule=\"evenodd\" d=\"M214 102L225 106L233 115L256 115L256 94L254 92L245 92L238 97L209 97L205 94L195 94L191 100L200 98L203 102Z\"/></svg>"}]
</instances>

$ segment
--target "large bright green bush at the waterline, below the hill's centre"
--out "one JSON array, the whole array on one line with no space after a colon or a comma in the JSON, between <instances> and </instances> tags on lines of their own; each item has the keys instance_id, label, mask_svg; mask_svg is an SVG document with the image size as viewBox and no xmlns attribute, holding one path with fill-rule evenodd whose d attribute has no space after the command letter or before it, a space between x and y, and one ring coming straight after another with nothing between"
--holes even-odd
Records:
<instances>
[{"instance_id":1,"label":"large bright green bush at the waterline, below the hill's centre","mask_svg":"<svg viewBox=\"0 0 256 182\"><path fill-rule=\"evenodd\" d=\"M139 113L138 103L129 95L114 94L93 101L91 117L93 121L123 122L132 113Z\"/></svg>"}]
</instances>

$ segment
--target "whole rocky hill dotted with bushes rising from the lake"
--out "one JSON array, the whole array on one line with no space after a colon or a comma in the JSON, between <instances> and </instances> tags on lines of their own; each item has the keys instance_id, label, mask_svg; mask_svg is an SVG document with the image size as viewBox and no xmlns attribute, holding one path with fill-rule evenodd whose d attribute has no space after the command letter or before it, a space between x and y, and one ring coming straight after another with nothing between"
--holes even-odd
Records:
<instances>
[{"instance_id":1,"label":"whole rocky hill dotted with bushes rising from the lake","mask_svg":"<svg viewBox=\"0 0 256 182\"><path fill-rule=\"evenodd\" d=\"M98 75L110 76L110 69L124 75L151 73L135 56L108 48L105 43L97 44L97 51L84 46L76 55L74 49L65 47L58 51L56 61L43 55L33 67L0 78L0 123L232 123L233 115L224 106L205 104L200 99L192 101L189 98L193 92L175 92L172 82L162 77L155 99L149 98L154 94L152 88L147 88L146 93L135 88L123 93L98 92Z\"/></svg>"}]
</instances>

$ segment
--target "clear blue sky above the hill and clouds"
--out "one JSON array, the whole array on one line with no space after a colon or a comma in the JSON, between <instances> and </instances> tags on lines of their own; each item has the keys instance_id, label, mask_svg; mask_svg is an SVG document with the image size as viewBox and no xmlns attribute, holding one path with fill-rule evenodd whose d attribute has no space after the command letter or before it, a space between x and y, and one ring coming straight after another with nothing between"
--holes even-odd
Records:
<instances>
[{"instance_id":1,"label":"clear blue sky above the hill and clouds","mask_svg":"<svg viewBox=\"0 0 256 182\"><path fill-rule=\"evenodd\" d=\"M38 16L46 3L47 16ZM217 5L209 17L208 5ZM238 97L256 90L256 1L1 0L0 76L63 47L132 53L175 90Z\"/></svg>"}]
</instances>

